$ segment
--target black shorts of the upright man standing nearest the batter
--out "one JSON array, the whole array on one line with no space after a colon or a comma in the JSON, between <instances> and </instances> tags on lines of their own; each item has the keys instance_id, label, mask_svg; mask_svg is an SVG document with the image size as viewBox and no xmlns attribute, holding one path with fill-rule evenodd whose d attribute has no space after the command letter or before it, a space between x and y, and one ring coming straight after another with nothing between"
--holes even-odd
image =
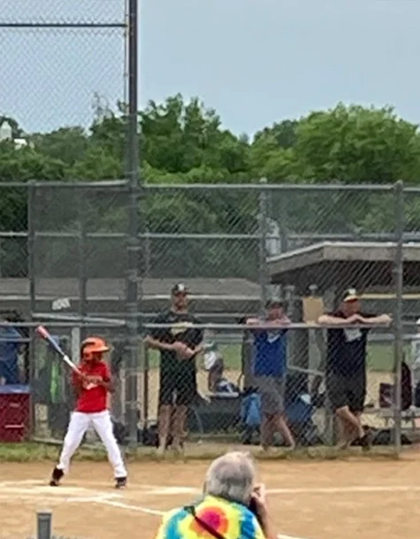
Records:
<instances>
[{"instance_id":1,"label":"black shorts of the upright man standing nearest the batter","mask_svg":"<svg viewBox=\"0 0 420 539\"><path fill-rule=\"evenodd\" d=\"M159 404L189 406L197 394L193 367L161 369L159 382Z\"/></svg>"}]
</instances>

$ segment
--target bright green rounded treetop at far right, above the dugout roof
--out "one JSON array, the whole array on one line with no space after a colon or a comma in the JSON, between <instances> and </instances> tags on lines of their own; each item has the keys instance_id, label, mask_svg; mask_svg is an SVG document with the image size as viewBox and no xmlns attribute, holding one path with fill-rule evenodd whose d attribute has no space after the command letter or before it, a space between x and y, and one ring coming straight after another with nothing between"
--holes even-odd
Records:
<instances>
[{"instance_id":1,"label":"bright green rounded treetop at far right, above the dugout roof","mask_svg":"<svg viewBox=\"0 0 420 539\"><path fill-rule=\"evenodd\" d=\"M296 134L303 179L345 183L420 179L417 126L398 118L391 107L338 104L301 119Z\"/></svg>"}]
</instances>

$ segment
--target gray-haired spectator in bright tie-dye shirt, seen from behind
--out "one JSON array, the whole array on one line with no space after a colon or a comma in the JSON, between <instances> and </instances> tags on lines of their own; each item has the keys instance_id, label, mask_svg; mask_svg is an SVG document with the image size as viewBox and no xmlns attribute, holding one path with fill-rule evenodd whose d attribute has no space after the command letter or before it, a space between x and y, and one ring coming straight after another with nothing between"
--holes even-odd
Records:
<instances>
[{"instance_id":1,"label":"gray-haired spectator in bright tie-dye shirt, seen from behind","mask_svg":"<svg viewBox=\"0 0 420 539\"><path fill-rule=\"evenodd\" d=\"M156 539L277 539L263 485L247 453L229 452L205 475L202 498L164 516Z\"/></svg>"}]
</instances>

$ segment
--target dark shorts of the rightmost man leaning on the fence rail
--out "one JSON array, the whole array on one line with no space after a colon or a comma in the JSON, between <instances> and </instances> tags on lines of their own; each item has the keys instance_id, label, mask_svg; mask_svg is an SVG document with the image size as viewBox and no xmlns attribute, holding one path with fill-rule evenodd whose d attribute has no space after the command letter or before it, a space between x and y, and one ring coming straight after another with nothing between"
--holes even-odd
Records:
<instances>
[{"instance_id":1,"label":"dark shorts of the rightmost man leaning on the fence rail","mask_svg":"<svg viewBox=\"0 0 420 539\"><path fill-rule=\"evenodd\" d=\"M352 412L363 412L366 397L366 373L344 375L328 373L326 376L327 395L332 409L348 406Z\"/></svg>"}]
</instances>

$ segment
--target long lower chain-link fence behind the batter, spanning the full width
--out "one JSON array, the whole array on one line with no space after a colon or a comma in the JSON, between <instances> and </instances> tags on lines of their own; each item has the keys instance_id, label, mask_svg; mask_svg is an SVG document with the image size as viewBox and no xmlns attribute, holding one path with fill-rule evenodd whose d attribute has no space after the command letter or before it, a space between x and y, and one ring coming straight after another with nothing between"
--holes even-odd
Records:
<instances>
[{"instance_id":1,"label":"long lower chain-link fence behind the batter, spanning the full width","mask_svg":"<svg viewBox=\"0 0 420 539\"><path fill-rule=\"evenodd\" d=\"M131 427L139 443L157 443L165 367L156 346L145 345L144 338L153 331L150 324L162 323L159 312L172 316L171 289L177 282L189 289L188 309L194 318L169 320L171 339L182 338L195 324L206 329L193 339L198 345L203 338L204 353L196 358L199 395L194 402L187 398L192 439L228 435L248 441L247 397L261 381L255 380L256 337L244 324L263 314L267 298L278 296L292 323L282 352L281 375L287 373L287 381L281 408L286 411L288 403L289 415L292 406L294 416L307 418L306 438L304 432L297 436L299 443L335 443L337 403L331 402L327 383L332 362L328 332L333 328L318 327L317 320L323 312L340 311L349 288L357 289L362 312L393 317L392 326L374 322L367 335L365 376L356 383L363 424L376 429L377 441L387 440L397 449L401 436L394 434L400 427L403 435L407 427L415 437L420 315L416 189L264 182L144 186L139 205L144 224L138 260L141 331L133 373L126 339L127 183L4 182L0 189L6 210L0 231L1 308L4 317L13 314L18 341L26 343L20 346L26 359L19 381L33 386L37 437L60 438L71 408L63 366L40 351L40 343L28 345L34 343L34 325L42 320L73 355L87 333L110 340L119 358L112 409L121 441ZM276 340L275 332L265 333L269 341ZM346 354L341 350L339 355ZM411 381L406 365L413 367ZM172 389L188 375L187 370L171 373L176 382ZM126 383L130 376L135 378L134 397ZM263 404L257 410L254 422L264 417ZM257 443L258 435L252 440Z\"/></svg>"}]
</instances>

